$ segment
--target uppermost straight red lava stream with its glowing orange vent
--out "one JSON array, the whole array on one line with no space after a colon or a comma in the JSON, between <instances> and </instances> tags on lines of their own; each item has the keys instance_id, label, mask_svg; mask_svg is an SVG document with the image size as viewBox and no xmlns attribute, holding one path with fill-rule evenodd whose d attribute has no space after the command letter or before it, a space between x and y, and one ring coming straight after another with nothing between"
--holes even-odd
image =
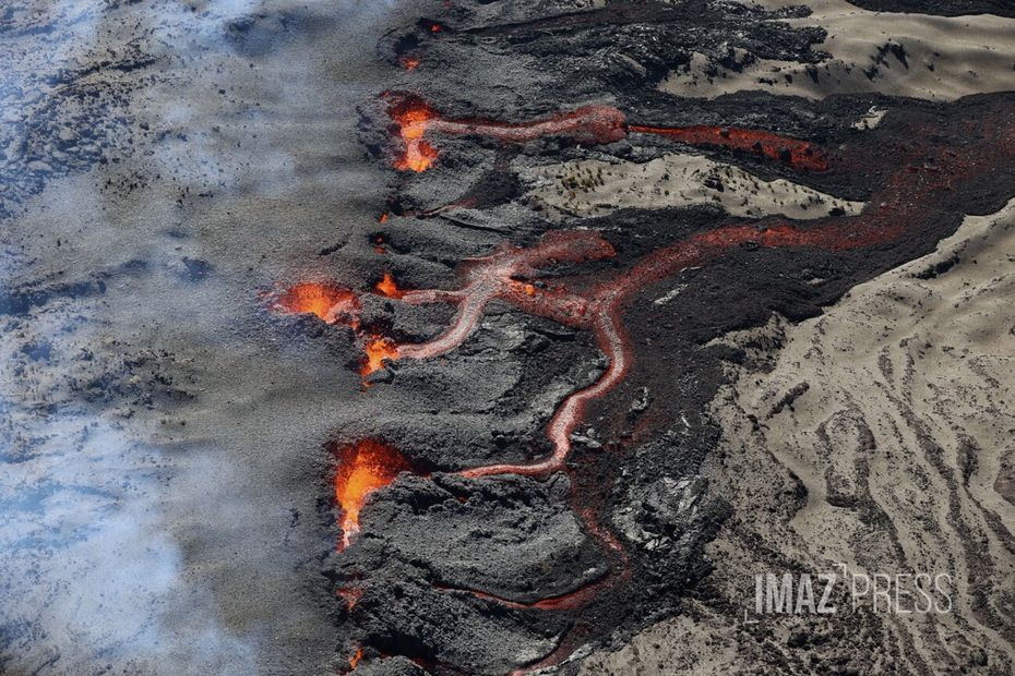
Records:
<instances>
[{"instance_id":1,"label":"uppermost straight red lava stream with its glowing orange vent","mask_svg":"<svg viewBox=\"0 0 1015 676\"><path fill-rule=\"evenodd\" d=\"M798 170L825 171L828 168L824 153L805 141L731 126L629 124L626 116L612 106L582 106L529 122L510 123L446 119L415 95L387 95L387 114L398 125L398 135L405 145L394 160L394 167L402 171L425 171L432 166L438 150L423 140L428 132L447 136L483 136L503 144L556 136L584 145L613 143L625 138L629 133L655 134L688 145L759 154Z\"/></svg>"}]
</instances>

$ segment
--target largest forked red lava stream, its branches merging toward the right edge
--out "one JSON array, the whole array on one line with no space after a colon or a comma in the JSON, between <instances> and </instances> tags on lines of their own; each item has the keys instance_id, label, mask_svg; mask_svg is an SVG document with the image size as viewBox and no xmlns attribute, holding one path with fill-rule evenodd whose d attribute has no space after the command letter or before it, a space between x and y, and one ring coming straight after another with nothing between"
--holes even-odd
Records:
<instances>
[{"instance_id":1,"label":"largest forked red lava stream, its branches merging toward the right edge","mask_svg":"<svg viewBox=\"0 0 1015 676\"><path fill-rule=\"evenodd\" d=\"M857 216L834 217L817 225L773 218L700 232L652 252L628 270L606 280L592 281L590 289L583 293L549 279L539 285L518 279L533 279L547 265L612 256L610 243L590 230L551 231L529 249L502 248L489 256L467 261L459 271L462 286L457 290L417 290L403 294L405 303L444 302L456 304L458 311L444 333L425 343L399 345L395 355L430 359L456 349L476 329L486 306L493 300L560 324L592 330L597 346L609 359L609 366L596 383L568 396L554 412L547 428L552 454L539 462L478 467L464 470L461 475L539 475L562 470L571 450L571 434L584 419L585 408L616 387L633 361L621 321L622 309L633 294L683 269L715 261L740 245L846 251L897 241L907 230L930 222L938 210L934 201L954 194L956 183L974 180L979 172L992 167L1001 169L1015 158L1015 132L1003 124L992 131L994 133L983 134L991 140L993 152L989 161L977 144L969 144L960 152L951 147L936 148L936 156L926 146L912 147L909 156L901 158L901 168L888 176L887 185L875 193L868 208ZM928 135L931 133L933 130L928 130Z\"/></svg>"}]
</instances>

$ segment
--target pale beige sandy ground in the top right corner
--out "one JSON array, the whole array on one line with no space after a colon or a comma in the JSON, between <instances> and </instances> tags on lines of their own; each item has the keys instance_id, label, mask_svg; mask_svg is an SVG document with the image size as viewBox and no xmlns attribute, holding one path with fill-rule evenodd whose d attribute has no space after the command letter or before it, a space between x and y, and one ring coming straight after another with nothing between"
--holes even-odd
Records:
<instances>
[{"instance_id":1,"label":"pale beige sandy ground in the top right corner","mask_svg":"<svg viewBox=\"0 0 1015 676\"><path fill-rule=\"evenodd\" d=\"M1015 20L990 14L931 16L861 10L845 0L765 0L768 10L805 5L804 17L785 19L798 27L820 27L826 37L813 46L814 62L759 59L730 49L724 64L695 55L660 88L680 96L714 98L742 90L824 98L834 94L879 93L930 100L955 100L1012 86Z\"/></svg>"}]
</instances>

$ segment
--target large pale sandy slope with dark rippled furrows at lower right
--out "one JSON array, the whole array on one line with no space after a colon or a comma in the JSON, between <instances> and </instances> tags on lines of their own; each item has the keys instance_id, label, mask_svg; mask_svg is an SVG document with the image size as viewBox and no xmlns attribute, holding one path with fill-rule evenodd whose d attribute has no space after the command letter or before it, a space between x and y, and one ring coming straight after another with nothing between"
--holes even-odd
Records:
<instances>
[{"instance_id":1,"label":"large pale sandy slope with dark rippled furrows at lower right","mask_svg":"<svg viewBox=\"0 0 1015 676\"><path fill-rule=\"evenodd\" d=\"M1013 262L1015 203L819 318L725 339L749 358L713 402L705 473L737 515L708 547L715 596L583 673L1010 673ZM839 563L952 572L954 609L743 624L755 574Z\"/></svg>"}]
</instances>

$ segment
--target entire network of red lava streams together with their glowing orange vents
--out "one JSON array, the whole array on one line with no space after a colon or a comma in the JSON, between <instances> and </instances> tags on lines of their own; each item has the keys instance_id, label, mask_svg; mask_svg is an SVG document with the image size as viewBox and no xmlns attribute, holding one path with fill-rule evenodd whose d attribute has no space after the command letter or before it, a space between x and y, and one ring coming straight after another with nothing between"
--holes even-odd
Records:
<instances>
[{"instance_id":1,"label":"entire network of red lava streams together with their glowing orange vents","mask_svg":"<svg viewBox=\"0 0 1015 676\"><path fill-rule=\"evenodd\" d=\"M396 159L395 166L415 171L429 168L437 158L437 149L425 141L428 133L478 135L501 143L524 143L556 135L576 143L596 144L610 143L632 133L656 134L692 145L750 152L802 171L834 168L829 167L820 148L803 141L732 128L629 125L623 113L607 106L586 106L522 124L444 119L415 97L393 98L390 112L398 123L398 133L405 143L404 154ZM903 156L894 158L884 186L874 191L868 206L855 216L829 216L809 222L780 217L754 222L730 221L661 246L629 267L613 267L607 274L601 268L618 257L617 249L595 230L548 231L533 245L502 245L486 256L464 261L456 270L457 285L451 289L406 290L386 274L374 286L373 292L406 305L446 303L455 306L456 312L442 333L422 342L397 343L379 335L362 336L367 354L363 373L383 369L389 360L427 360L457 349L476 330L492 301L590 331L596 346L606 355L608 366L595 383L571 393L557 407L546 427L551 452L532 462L493 463L455 473L465 479L478 479L499 474L544 476L569 472L572 435L586 420L588 408L602 400L632 370L635 354L626 336L624 313L642 290L679 276L688 268L714 263L738 248L846 252L895 246L907 234L930 228L935 215L948 208L962 191L969 190L978 177L1001 170L1015 160L1015 126L1003 116L988 119L982 129L970 129L968 136L975 141L963 146L935 143L936 133L933 123L913 128L915 142L906 147ZM848 165L848 155L840 159ZM547 275L561 264L576 266L594 262L599 262L600 271L596 275L566 280ZM318 295L312 293L295 295L311 299L300 305L304 307L300 311L313 312L325 321L342 313L343 316L353 316L355 312L350 309L358 307L355 295L334 295L334 291L326 297L327 300L318 300ZM338 300L333 301L334 298ZM284 304L282 299L279 304ZM339 307L342 312L333 307ZM358 530L359 509L366 496L390 483L405 469L408 466L397 451L378 442L360 442L343 451L336 476L336 499L344 511L343 530L346 533L343 546L348 545L349 535ZM442 591L468 591L477 599L514 609L573 611L589 603L605 587L629 579L631 569L623 546L608 529L597 524L593 510L580 508L578 498L575 494L575 510L585 521L586 531L602 543L604 551L616 564L612 572L570 593L530 603L518 603L478 590ZM565 656L565 648L561 644L533 667L551 665Z\"/></svg>"}]
</instances>

